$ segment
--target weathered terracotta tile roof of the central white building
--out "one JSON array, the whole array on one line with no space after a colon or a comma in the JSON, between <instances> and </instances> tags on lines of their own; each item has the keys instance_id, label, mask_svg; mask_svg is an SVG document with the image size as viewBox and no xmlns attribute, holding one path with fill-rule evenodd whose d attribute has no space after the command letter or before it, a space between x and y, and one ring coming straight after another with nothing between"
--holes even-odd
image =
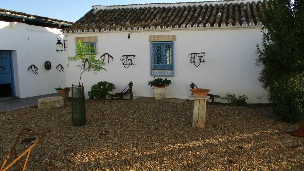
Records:
<instances>
[{"instance_id":1,"label":"weathered terracotta tile roof of the central white building","mask_svg":"<svg viewBox=\"0 0 304 171\"><path fill-rule=\"evenodd\" d=\"M255 1L185 2L93 6L65 33L121 30L181 29L261 25L258 12L263 3ZM269 5L268 5L269 8Z\"/></svg>"}]
</instances>

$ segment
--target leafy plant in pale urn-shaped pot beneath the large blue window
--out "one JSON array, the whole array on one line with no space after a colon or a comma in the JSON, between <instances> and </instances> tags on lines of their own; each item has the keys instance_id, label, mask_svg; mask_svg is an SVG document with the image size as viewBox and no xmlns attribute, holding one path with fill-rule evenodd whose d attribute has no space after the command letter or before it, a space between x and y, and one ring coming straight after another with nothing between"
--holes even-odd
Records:
<instances>
[{"instance_id":1,"label":"leafy plant in pale urn-shaped pot beneath the large blue window","mask_svg":"<svg viewBox=\"0 0 304 171\"><path fill-rule=\"evenodd\" d=\"M152 81L148 81L148 85L153 89L155 100L164 100L166 96L166 86L171 84L171 80L160 77L161 76L158 76L157 79L154 77Z\"/></svg>"}]
</instances>

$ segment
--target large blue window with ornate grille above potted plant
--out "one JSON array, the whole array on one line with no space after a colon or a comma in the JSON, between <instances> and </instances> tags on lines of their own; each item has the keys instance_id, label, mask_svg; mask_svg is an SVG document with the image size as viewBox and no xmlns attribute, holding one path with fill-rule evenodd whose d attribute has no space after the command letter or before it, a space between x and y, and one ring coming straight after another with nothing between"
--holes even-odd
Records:
<instances>
[{"instance_id":1,"label":"large blue window with ornate grille above potted plant","mask_svg":"<svg viewBox=\"0 0 304 171\"><path fill-rule=\"evenodd\" d=\"M151 42L151 76L174 76L173 42Z\"/></svg>"}]
</instances>

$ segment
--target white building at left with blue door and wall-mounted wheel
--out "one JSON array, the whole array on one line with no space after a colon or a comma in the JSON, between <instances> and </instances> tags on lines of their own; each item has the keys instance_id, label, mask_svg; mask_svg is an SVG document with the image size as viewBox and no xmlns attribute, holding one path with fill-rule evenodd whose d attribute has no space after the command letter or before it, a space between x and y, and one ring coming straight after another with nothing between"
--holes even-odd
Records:
<instances>
[{"instance_id":1,"label":"white building at left with blue door and wall-mounted wheel","mask_svg":"<svg viewBox=\"0 0 304 171\"><path fill-rule=\"evenodd\" d=\"M0 9L0 96L38 96L67 85L65 54L56 52L55 43L60 30L71 24ZM56 69L59 64L64 72Z\"/></svg>"}]
</instances>

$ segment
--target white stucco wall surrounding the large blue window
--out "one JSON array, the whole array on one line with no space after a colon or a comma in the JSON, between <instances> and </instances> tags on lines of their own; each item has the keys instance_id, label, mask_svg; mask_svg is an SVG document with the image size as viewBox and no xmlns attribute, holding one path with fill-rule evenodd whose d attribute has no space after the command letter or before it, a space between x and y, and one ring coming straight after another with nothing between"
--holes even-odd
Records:
<instances>
[{"instance_id":1,"label":"white stucco wall surrounding the large blue window","mask_svg":"<svg viewBox=\"0 0 304 171\"><path fill-rule=\"evenodd\" d=\"M91 86L99 81L112 82L116 86L115 92L121 92L126 85L133 82L134 96L153 96L148 81L150 76L150 42L149 35L175 34L174 41L174 77L167 87L166 97L188 99L191 94L190 82L199 88L211 89L211 94L245 95L248 103L267 103L267 93L261 88L257 78L261 67L255 65L257 58L255 45L262 42L260 28L252 29L208 29L208 30L178 30L178 31L135 31L130 32L100 32L100 33L68 33L65 34L68 42L67 56L75 55L75 37L98 36L96 43L99 54L109 53L114 61L108 63L105 59L107 72L97 75L91 72L83 74L81 82L85 85L86 97ZM130 39L127 38L128 33ZM205 52L204 60L199 67L190 63L188 54ZM124 68L119 58L122 55L136 55L136 65ZM67 58L66 56L66 58ZM79 68L76 62L67 61L67 85L78 83ZM164 78L164 77L163 77ZM259 97L263 97L260 99ZM215 98L217 102L224 99Z\"/></svg>"}]
</instances>

